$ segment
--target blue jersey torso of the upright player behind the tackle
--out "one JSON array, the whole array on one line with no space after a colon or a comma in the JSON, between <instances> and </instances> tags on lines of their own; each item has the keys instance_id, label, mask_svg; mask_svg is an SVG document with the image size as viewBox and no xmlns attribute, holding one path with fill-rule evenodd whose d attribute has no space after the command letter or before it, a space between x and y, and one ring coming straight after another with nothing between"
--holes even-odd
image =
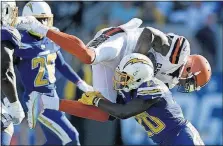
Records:
<instances>
[{"instance_id":1,"label":"blue jersey torso of the upright player behind the tackle","mask_svg":"<svg viewBox=\"0 0 223 146\"><path fill-rule=\"evenodd\" d=\"M48 38L39 39L21 32L22 45L15 51L20 58L17 68L26 92L49 93L55 88L55 61L59 47Z\"/></svg>"}]
</instances>

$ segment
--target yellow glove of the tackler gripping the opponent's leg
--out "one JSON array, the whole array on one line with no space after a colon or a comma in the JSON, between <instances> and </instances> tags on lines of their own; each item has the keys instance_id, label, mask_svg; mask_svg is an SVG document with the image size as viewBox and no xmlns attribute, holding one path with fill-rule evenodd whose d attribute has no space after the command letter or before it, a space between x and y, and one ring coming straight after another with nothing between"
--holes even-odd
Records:
<instances>
[{"instance_id":1,"label":"yellow glove of the tackler gripping the opponent's leg","mask_svg":"<svg viewBox=\"0 0 223 146\"><path fill-rule=\"evenodd\" d=\"M94 101L99 95L100 93L98 91L86 92L82 94L81 99L78 101L86 105L95 105Z\"/></svg>"}]
</instances>

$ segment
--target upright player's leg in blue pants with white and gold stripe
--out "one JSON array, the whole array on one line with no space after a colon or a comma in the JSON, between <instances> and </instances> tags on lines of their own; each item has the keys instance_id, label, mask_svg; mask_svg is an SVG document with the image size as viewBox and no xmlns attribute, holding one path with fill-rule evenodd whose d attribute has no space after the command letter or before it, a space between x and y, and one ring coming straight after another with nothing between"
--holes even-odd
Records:
<instances>
[{"instance_id":1,"label":"upright player's leg in blue pants with white and gold stripe","mask_svg":"<svg viewBox=\"0 0 223 146\"><path fill-rule=\"evenodd\" d=\"M59 111L45 110L38 118L46 137L45 145L79 145L79 134Z\"/></svg>"}]
</instances>

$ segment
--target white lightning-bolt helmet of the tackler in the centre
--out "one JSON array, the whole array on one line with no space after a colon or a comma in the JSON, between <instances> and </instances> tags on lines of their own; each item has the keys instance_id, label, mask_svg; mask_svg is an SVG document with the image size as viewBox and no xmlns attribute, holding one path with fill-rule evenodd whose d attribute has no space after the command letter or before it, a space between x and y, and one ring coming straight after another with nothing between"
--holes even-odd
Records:
<instances>
[{"instance_id":1,"label":"white lightning-bolt helmet of the tackler in the centre","mask_svg":"<svg viewBox=\"0 0 223 146\"><path fill-rule=\"evenodd\" d=\"M132 53L125 56L116 67L114 89L129 92L153 77L154 68L151 60L145 55Z\"/></svg>"}]
</instances>

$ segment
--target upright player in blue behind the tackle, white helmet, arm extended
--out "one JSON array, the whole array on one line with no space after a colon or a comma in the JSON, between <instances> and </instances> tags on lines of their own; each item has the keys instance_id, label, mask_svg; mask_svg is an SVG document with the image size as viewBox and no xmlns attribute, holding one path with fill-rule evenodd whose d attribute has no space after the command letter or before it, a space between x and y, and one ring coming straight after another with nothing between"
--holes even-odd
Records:
<instances>
[{"instance_id":1,"label":"upright player in blue behind the tackle, white helmet, arm extended","mask_svg":"<svg viewBox=\"0 0 223 146\"><path fill-rule=\"evenodd\" d=\"M53 28L53 14L49 5L44 1L28 2L23 8L22 15L32 15L41 23ZM55 86L55 69L77 84L84 92L93 90L64 61L60 47L54 44L53 41L31 31L20 31L20 34L22 45L20 49L15 51L15 56L17 57L16 66L25 88L23 95L24 103L30 97L35 96L30 94L32 91L58 98ZM27 103L27 106L25 106L25 110L31 110L32 113L38 113L41 110L39 105L30 107ZM45 145L79 145L77 130L62 112L45 110L40 115L37 114L32 118L34 118L32 119L34 121L38 118L40 122L46 137ZM35 125L36 122L29 122L30 128L34 128Z\"/></svg>"}]
</instances>

